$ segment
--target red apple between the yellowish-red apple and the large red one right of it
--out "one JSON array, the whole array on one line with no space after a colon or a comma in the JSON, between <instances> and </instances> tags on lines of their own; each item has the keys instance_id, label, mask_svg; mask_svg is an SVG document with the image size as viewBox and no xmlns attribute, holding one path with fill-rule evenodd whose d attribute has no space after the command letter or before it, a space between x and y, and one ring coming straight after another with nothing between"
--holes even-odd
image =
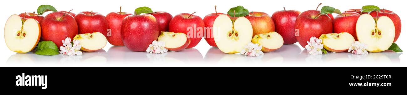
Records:
<instances>
[{"instance_id":1,"label":"red apple between the yellowish-red apple and the large red one right of it","mask_svg":"<svg viewBox=\"0 0 407 95\"><path fill-rule=\"evenodd\" d=\"M276 32L281 35L285 45L297 42L295 38L295 20L300 15L298 10L276 11L271 16L276 26Z\"/></svg>"}]
</instances>

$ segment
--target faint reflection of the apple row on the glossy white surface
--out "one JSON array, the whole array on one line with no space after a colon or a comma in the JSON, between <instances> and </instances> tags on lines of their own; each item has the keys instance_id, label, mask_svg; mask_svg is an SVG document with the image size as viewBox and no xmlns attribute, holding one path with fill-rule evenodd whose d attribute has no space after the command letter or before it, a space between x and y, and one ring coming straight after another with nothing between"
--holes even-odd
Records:
<instances>
[{"instance_id":1,"label":"faint reflection of the apple row on the glossy white surface","mask_svg":"<svg viewBox=\"0 0 407 95\"><path fill-rule=\"evenodd\" d=\"M283 45L274 52L265 52L258 57L243 56L241 54L225 54L219 48L210 48L205 57L195 48L180 52L166 52L164 54L149 54L147 52L131 52L123 46L112 46L107 50L85 52L82 56L42 56L29 52L11 55L7 64L60 64L60 65L217 65L217 64L245 64L245 65L370 65L370 64L400 64L400 55L392 51L369 53L368 55L354 55L340 52L322 55L309 55L298 45ZM164 64L164 65L163 65Z\"/></svg>"}]
</instances>

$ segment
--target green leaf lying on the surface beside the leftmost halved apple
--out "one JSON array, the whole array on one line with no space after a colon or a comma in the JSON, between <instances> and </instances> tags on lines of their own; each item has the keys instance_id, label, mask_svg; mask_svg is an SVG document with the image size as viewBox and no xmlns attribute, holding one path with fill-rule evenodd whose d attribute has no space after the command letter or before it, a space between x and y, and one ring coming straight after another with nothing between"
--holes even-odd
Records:
<instances>
[{"instance_id":1,"label":"green leaf lying on the surface beside the leftmost halved apple","mask_svg":"<svg viewBox=\"0 0 407 95\"><path fill-rule=\"evenodd\" d=\"M41 41L38 43L37 51L35 54L38 55L58 55L59 49L52 41Z\"/></svg>"}]
</instances>

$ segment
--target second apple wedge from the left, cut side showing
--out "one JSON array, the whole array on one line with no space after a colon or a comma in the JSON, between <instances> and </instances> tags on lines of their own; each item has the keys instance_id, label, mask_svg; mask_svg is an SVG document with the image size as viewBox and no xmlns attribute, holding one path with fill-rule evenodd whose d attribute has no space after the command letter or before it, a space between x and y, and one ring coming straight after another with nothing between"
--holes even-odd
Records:
<instances>
[{"instance_id":1,"label":"second apple wedge from the left, cut side showing","mask_svg":"<svg viewBox=\"0 0 407 95\"><path fill-rule=\"evenodd\" d=\"M182 32L162 32L158 41L165 42L165 48L171 51L181 51L188 47L191 40Z\"/></svg>"}]
</instances>

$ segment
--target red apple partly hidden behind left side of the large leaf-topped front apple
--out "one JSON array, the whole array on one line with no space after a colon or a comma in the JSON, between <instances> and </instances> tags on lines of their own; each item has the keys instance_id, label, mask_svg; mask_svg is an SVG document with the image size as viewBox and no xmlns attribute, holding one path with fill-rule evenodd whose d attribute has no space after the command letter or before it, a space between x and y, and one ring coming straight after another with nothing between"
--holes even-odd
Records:
<instances>
[{"instance_id":1,"label":"red apple partly hidden behind left side of the large leaf-topped front apple","mask_svg":"<svg viewBox=\"0 0 407 95\"><path fill-rule=\"evenodd\" d=\"M132 15L131 13L126 12L111 12L106 15L107 25L111 30L111 36L107 36L106 39L109 41L110 44L116 46L124 46L122 41L121 28L122 22L125 17L128 15Z\"/></svg>"}]
</instances>

